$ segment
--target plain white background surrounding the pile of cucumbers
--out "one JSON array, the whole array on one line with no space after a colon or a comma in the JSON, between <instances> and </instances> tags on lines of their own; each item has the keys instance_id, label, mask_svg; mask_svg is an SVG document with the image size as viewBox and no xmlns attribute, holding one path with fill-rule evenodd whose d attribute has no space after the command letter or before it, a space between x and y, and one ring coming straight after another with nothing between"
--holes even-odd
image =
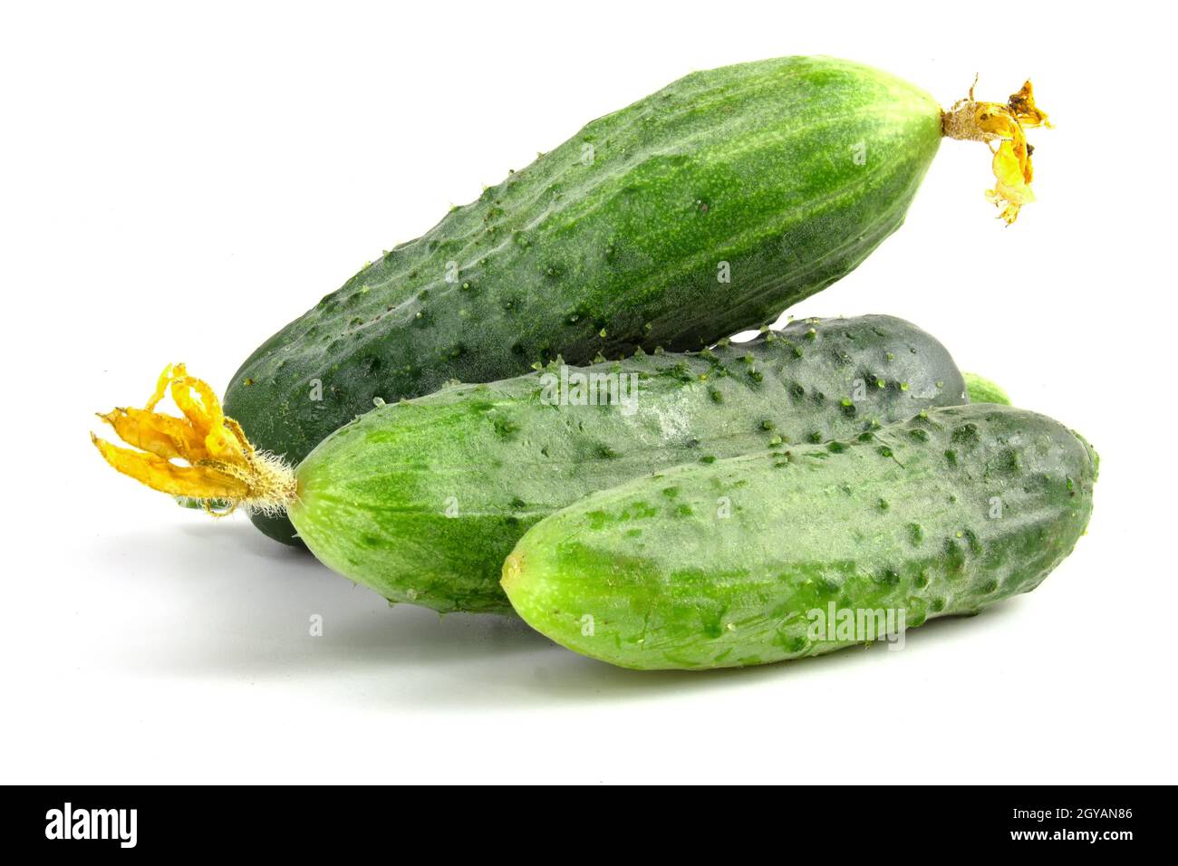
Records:
<instances>
[{"instance_id":1,"label":"plain white background surrounding the pile of cucumbers","mask_svg":"<svg viewBox=\"0 0 1178 866\"><path fill-rule=\"evenodd\" d=\"M1178 780L1162 8L6 5L2 780ZM587 120L790 53L942 105L975 72L998 100L1031 77L1057 123L1031 133L1039 203L1017 225L982 198L982 145L946 141L907 224L793 310L908 318L1096 444L1090 533L1035 593L899 653L626 672L508 619L390 609L91 448L92 412L141 404L165 363L224 388L366 259Z\"/></svg>"}]
</instances>

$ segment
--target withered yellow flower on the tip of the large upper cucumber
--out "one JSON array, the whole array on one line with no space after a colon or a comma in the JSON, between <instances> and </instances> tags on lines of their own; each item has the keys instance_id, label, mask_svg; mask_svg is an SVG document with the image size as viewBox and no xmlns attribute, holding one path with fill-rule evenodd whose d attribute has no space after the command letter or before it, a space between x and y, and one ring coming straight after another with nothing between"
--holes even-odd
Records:
<instances>
[{"instance_id":1,"label":"withered yellow flower on the tip of the large upper cucumber","mask_svg":"<svg viewBox=\"0 0 1178 866\"><path fill-rule=\"evenodd\" d=\"M994 154L993 170L997 183L986 191L986 198L1002 209L1001 218L1012 224L1019 209L1034 201L1031 192L1031 154L1027 128L1051 126L1047 114L1035 107L1034 91L1027 81L1018 93L1012 93L1006 105L982 103L973 98L974 79L969 95L959 99L948 111L941 112L941 132L960 141L985 141ZM1000 144L995 148L994 141Z\"/></svg>"}]
</instances>

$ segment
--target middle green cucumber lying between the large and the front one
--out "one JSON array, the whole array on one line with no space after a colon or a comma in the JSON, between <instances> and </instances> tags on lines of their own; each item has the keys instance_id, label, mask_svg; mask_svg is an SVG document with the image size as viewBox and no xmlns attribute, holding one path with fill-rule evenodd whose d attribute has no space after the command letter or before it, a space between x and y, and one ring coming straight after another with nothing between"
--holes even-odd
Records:
<instances>
[{"instance_id":1,"label":"middle green cucumber lying between the large and the front one","mask_svg":"<svg viewBox=\"0 0 1178 866\"><path fill-rule=\"evenodd\" d=\"M291 518L319 560L390 601L510 613L504 557L529 527L584 495L687 461L765 451L774 437L852 436L965 402L948 351L889 316L805 319L701 355L583 370L616 369L642 377L630 416L544 403L541 373L373 410L298 468ZM456 516L445 514L451 496Z\"/></svg>"}]
</instances>

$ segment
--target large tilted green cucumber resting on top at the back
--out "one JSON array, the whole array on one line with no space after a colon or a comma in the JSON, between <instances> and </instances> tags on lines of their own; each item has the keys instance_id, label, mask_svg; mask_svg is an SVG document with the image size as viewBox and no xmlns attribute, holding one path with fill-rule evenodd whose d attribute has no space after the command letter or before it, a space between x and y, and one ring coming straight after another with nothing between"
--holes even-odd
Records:
<instances>
[{"instance_id":1,"label":"large tilted green cucumber resting on top at the back","mask_svg":"<svg viewBox=\"0 0 1178 866\"><path fill-rule=\"evenodd\" d=\"M904 222L940 138L932 97L858 64L693 73L365 266L250 356L226 414L298 463L375 397L502 379L557 355L702 349L859 265ZM285 520L254 522L290 541Z\"/></svg>"}]
</instances>

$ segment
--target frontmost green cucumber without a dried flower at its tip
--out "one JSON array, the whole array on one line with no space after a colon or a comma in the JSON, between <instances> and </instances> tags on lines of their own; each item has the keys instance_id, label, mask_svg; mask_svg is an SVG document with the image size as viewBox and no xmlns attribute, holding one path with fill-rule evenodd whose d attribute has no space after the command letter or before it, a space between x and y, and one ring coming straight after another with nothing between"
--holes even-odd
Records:
<instances>
[{"instance_id":1,"label":"frontmost green cucumber without a dried flower at its tip","mask_svg":"<svg viewBox=\"0 0 1178 866\"><path fill-rule=\"evenodd\" d=\"M760 665L853 646L807 635L807 612L829 602L902 608L911 628L1030 591L1092 511L1096 452L1024 410L932 409L833 448L677 467L587 497L521 540L507 594L557 643L622 667Z\"/></svg>"}]
</instances>

